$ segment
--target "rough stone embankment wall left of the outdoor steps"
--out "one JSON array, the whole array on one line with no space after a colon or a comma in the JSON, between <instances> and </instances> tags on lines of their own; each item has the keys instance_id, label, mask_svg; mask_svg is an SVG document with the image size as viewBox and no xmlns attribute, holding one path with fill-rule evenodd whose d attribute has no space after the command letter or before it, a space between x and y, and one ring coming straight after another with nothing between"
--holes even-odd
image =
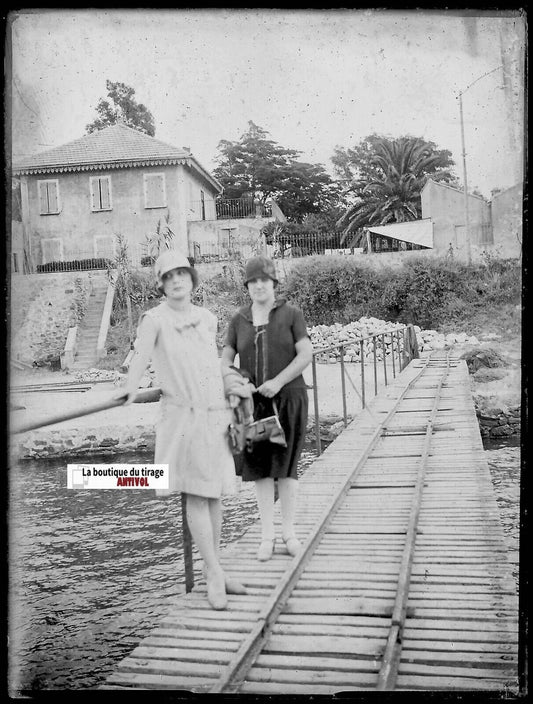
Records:
<instances>
[{"instance_id":1,"label":"rough stone embankment wall left of the outdoor steps","mask_svg":"<svg viewBox=\"0 0 533 704\"><path fill-rule=\"evenodd\" d=\"M11 354L27 364L58 357L68 329L85 314L93 276L99 272L58 272L13 276Z\"/></svg>"}]
</instances>

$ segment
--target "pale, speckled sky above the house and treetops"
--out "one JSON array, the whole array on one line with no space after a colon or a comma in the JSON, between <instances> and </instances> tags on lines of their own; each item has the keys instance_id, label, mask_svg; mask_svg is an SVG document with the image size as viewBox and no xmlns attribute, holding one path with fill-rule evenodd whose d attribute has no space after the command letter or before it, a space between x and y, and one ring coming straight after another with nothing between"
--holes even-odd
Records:
<instances>
[{"instance_id":1,"label":"pale, speckled sky above the house and treetops","mask_svg":"<svg viewBox=\"0 0 533 704\"><path fill-rule=\"evenodd\" d=\"M18 11L8 32L13 157L83 136L111 80L135 89L157 139L189 147L208 169L219 141L238 140L252 120L331 174L336 146L422 137L451 151L462 182L464 91L468 186L490 197L523 172L525 19L472 13Z\"/></svg>"}]
</instances>

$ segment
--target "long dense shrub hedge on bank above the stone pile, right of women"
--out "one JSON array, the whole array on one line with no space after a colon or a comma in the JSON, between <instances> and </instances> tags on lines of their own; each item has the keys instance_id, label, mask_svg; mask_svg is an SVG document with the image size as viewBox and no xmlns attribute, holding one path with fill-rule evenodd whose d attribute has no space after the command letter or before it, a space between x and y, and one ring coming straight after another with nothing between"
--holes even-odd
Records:
<instances>
[{"instance_id":1,"label":"long dense shrub hedge on bank above the stone pile, right of women","mask_svg":"<svg viewBox=\"0 0 533 704\"><path fill-rule=\"evenodd\" d=\"M280 293L310 325L369 316L429 328L474 307L518 303L521 269L517 260L489 257L470 265L446 256L412 257L393 266L370 258L307 257L292 267Z\"/></svg>"}]
</instances>

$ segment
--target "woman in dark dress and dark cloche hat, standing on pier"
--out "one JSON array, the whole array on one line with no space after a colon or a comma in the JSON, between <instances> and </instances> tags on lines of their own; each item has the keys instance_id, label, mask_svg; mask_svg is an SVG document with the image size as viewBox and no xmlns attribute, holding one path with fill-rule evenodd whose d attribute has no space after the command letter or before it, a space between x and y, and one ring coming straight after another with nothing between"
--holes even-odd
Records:
<instances>
[{"instance_id":1,"label":"woman in dark dress and dark cloche hat, standing on pier","mask_svg":"<svg viewBox=\"0 0 533 704\"><path fill-rule=\"evenodd\" d=\"M230 321L224 350L223 373L236 355L239 369L255 386L254 418L273 414L275 401L287 447L258 443L251 452L235 458L237 474L254 481L261 519L259 560L269 560L275 545L274 482L278 482L282 539L290 555L301 547L295 534L297 465L307 426L307 387L303 370L312 359L311 340L301 311L276 299L276 270L268 257L258 256L246 264L244 285L251 305L241 308Z\"/></svg>"}]
</instances>

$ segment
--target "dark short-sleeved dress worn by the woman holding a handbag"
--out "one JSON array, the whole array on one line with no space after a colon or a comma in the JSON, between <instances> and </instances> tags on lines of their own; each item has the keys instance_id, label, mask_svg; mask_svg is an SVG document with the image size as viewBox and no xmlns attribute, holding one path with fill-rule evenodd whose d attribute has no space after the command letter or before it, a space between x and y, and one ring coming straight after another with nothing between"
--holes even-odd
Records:
<instances>
[{"instance_id":1,"label":"dark short-sleeved dress worn by the woman holding a handbag","mask_svg":"<svg viewBox=\"0 0 533 704\"><path fill-rule=\"evenodd\" d=\"M273 379L296 357L295 343L307 337L307 328L299 308L277 299L267 325L254 326L251 305L233 316L226 335L226 345L239 354L241 372L255 386ZM251 452L237 455L235 468L244 481L272 477L297 479L297 466L307 429L307 386L300 374L274 397L287 447L268 441L253 445ZM272 400L254 394L254 418L272 415Z\"/></svg>"}]
</instances>

